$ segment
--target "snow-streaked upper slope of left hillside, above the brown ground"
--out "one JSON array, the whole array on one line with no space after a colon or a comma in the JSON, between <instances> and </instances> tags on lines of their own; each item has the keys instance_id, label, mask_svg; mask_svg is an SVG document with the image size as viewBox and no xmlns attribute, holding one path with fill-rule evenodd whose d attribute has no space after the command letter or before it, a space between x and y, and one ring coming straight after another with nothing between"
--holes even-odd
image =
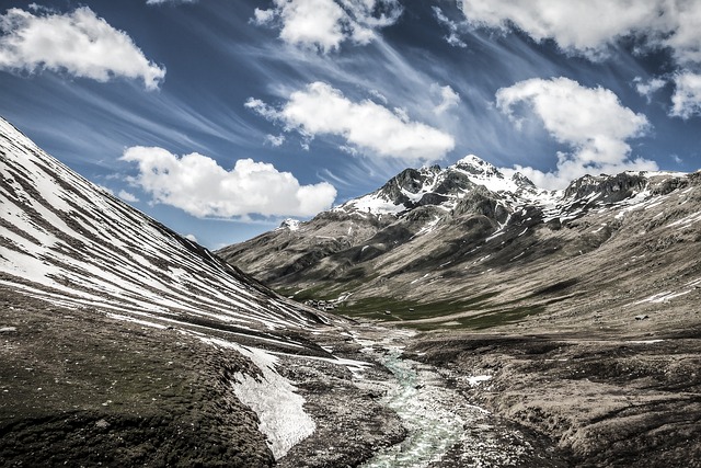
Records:
<instances>
[{"instance_id":1,"label":"snow-streaked upper slope of left hillside, above the brown ground","mask_svg":"<svg viewBox=\"0 0 701 468\"><path fill-rule=\"evenodd\" d=\"M0 285L171 324L320 323L207 250L96 187L0 122Z\"/></svg>"}]
</instances>

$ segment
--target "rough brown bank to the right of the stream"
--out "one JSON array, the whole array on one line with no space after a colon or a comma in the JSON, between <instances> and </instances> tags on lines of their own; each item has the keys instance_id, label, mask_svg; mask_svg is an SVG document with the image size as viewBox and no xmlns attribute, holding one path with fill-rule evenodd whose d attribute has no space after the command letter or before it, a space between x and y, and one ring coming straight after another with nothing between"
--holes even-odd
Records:
<instances>
[{"instance_id":1,"label":"rough brown bank to the right of the stream","mask_svg":"<svg viewBox=\"0 0 701 468\"><path fill-rule=\"evenodd\" d=\"M701 329L654 335L439 334L412 343L467 399L570 466L701 466ZM474 386L466 376L490 376Z\"/></svg>"}]
</instances>

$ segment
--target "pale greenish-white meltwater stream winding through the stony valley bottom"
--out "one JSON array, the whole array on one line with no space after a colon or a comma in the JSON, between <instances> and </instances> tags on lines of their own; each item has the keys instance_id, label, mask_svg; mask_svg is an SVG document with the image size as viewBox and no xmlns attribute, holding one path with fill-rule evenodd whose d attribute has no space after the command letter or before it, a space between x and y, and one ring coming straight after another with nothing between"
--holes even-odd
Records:
<instances>
[{"instance_id":1,"label":"pale greenish-white meltwater stream winding through the stony valley bottom","mask_svg":"<svg viewBox=\"0 0 701 468\"><path fill-rule=\"evenodd\" d=\"M406 438L361 465L363 468L418 468L439 461L463 434L463 419L450 411L459 397L439 385L440 377L420 363L400 359L400 350L390 349L384 366L397 385L389 391L388 406L409 430Z\"/></svg>"}]
</instances>

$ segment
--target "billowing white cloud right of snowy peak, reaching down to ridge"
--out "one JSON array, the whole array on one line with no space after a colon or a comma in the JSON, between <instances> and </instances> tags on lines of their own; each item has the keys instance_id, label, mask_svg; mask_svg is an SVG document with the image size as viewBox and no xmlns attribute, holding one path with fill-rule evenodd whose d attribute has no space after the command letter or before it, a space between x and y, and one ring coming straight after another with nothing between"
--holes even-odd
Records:
<instances>
[{"instance_id":1,"label":"billowing white cloud right of snowy peak, reaching down to ridge","mask_svg":"<svg viewBox=\"0 0 701 468\"><path fill-rule=\"evenodd\" d=\"M623 106L610 90L585 88L566 78L531 79L499 89L496 105L517 126L524 118L517 113L524 107L532 110L556 141L572 148L572 152L558 153L555 172L517 167L540 186L562 189L572 179L593 172L657 170L654 161L630 159L627 141L643 136L650 123Z\"/></svg>"}]
</instances>

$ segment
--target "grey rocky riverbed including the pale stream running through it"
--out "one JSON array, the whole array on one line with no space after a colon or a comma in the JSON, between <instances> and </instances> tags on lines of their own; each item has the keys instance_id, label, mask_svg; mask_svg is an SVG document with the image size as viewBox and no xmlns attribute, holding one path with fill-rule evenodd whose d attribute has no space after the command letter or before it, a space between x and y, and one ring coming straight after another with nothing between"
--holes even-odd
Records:
<instances>
[{"instance_id":1,"label":"grey rocky riverbed including the pale stream running through it","mask_svg":"<svg viewBox=\"0 0 701 468\"><path fill-rule=\"evenodd\" d=\"M322 424L280 459L280 466L356 466L360 461L364 468L570 466L550 440L475 406L468 389L446 369L404 356L415 333L372 324L357 324L345 333L334 354L368 365L323 389L303 384L309 367L299 363L290 367L288 377L302 383L299 390L308 400L306 408ZM466 381L476 390L481 377ZM345 418L332 416L338 413ZM331 429L323 424L326 421ZM368 425L368 421L375 422Z\"/></svg>"}]
</instances>

